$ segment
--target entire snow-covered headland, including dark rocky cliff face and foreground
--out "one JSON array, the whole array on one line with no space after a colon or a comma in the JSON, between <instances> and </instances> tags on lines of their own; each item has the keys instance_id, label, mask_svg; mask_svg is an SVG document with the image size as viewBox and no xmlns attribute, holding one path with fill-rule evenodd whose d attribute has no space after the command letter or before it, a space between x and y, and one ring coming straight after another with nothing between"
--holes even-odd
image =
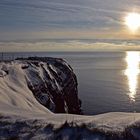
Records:
<instances>
[{"instance_id":1,"label":"entire snow-covered headland, including dark rocky cliff face and foreground","mask_svg":"<svg viewBox=\"0 0 140 140\"><path fill-rule=\"evenodd\" d=\"M140 139L139 113L82 116L52 111L81 111L76 77L65 61L0 63L0 139Z\"/></svg>"}]
</instances>

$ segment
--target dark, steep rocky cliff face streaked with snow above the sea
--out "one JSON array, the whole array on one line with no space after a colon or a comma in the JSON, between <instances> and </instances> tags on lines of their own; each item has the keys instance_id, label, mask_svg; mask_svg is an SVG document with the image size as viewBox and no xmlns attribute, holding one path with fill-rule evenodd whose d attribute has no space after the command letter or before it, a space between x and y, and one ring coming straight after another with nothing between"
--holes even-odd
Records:
<instances>
[{"instance_id":1,"label":"dark, steep rocky cliff face streaked with snow above the sea","mask_svg":"<svg viewBox=\"0 0 140 140\"><path fill-rule=\"evenodd\" d=\"M42 105L55 113L81 114L77 79L66 61L44 57L22 61L28 87Z\"/></svg>"}]
</instances>

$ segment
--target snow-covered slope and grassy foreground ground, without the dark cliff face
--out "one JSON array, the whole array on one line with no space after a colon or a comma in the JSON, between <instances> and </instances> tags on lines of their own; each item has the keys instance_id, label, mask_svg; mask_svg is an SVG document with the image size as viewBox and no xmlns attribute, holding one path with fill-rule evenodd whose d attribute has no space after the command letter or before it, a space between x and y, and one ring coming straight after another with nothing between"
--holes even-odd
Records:
<instances>
[{"instance_id":1,"label":"snow-covered slope and grassy foreground ground, without the dark cliff face","mask_svg":"<svg viewBox=\"0 0 140 140\"><path fill-rule=\"evenodd\" d=\"M140 139L139 113L52 113L29 89L26 65L25 61L0 63L0 139Z\"/></svg>"}]
</instances>

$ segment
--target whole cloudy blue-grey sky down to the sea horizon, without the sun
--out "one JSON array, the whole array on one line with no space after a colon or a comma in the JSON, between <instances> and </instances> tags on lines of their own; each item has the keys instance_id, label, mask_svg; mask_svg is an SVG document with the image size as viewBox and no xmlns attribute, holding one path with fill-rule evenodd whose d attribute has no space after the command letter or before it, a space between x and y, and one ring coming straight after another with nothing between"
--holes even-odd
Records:
<instances>
[{"instance_id":1,"label":"whole cloudy blue-grey sky down to the sea horizon, without the sun","mask_svg":"<svg viewBox=\"0 0 140 140\"><path fill-rule=\"evenodd\" d=\"M124 25L133 11L140 12L139 0L0 0L0 51L112 50L124 44L139 49L127 42L139 33ZM120 44L112 43L116 39Z\"/></svg>"}]
</instances>

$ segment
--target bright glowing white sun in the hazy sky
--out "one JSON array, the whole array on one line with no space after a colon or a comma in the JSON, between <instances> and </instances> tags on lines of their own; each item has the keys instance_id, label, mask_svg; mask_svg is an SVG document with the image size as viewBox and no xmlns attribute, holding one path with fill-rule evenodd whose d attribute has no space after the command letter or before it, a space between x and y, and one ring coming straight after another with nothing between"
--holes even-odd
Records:
<instances>
[{"instance_id":1,"label":"bright glowing white sun in the hazy sky","mask_svg":"<svg viewBox=\"0 0 140 140\"><path fill-rule=\"evenodd\" d=\"M125 17L125 25L135 33L140 28L140 14L138 13L129 13Z\"/></svg>"}]
</instances>

